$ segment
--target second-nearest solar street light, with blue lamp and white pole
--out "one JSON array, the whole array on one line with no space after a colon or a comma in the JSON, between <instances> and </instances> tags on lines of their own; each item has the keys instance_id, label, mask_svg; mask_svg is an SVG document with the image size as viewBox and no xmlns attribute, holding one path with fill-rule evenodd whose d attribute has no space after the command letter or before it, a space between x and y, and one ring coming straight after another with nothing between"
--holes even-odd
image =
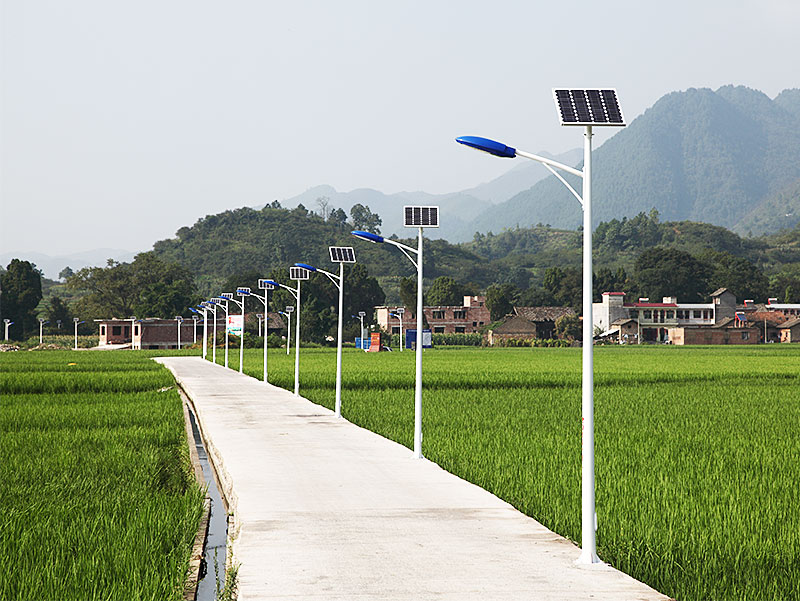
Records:
<instances>
[{"instance_id":1,"label":"second-nearest solar street light, with blue lamp and white pole","mask_svg":"<svg viewBox=\"0 0 800 601\"><path fill-rule=\"evenodd\" d=\"M356 238L374 243L387 243L396 246L417 268L417 357L416 378L414 386L414 457L422 458L422 231L426 227L439 227L439 207L405 206L403 207L403 225L419 230L417 248L411 248L401 242L384 238L371 232L351 232ZM363 338L362 338L363 340Z\"/></svg>"}]
</instances>

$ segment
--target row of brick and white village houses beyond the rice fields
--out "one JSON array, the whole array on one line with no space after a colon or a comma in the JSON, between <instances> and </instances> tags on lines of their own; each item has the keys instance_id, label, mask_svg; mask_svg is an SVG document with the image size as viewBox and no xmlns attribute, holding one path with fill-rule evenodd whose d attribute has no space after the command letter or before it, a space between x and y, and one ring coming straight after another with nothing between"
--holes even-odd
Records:
<instances>
[{"instance_id":1,"label":"row of brick and white village houses beyond the rice fields","mask_svg":"<svg viewBox=\"0 0 800 601\"><path fill-rule=\"evenodd\" d=\"M626 301L623 292L604 292L602 301L593 304L595 339L619 344L759 344L762 342L800 342L800 304L766 304L745 300L738 304L734 294L720 288L709 303L679 303L675 297L661 302L639 298ZM489 346L508 340L556 338L556 321L575 315L570 307L514 307L502 323L491 329L486 297L465 296L461 305L424 307L425 319L434 334L481 333ZM400 334L416 329L416 317L401 306L375 307L375 318L382 332ZM202 321L175 319L100 320L100 345L131 345L135 349L168 349L194 344L202 337ZM259 323L259 330L261 324ZM278 313L269 313L268 331L282 332L286 325ZM221 339L226 323L220 319L217 336Z\"/></svg>"}]
</instances>

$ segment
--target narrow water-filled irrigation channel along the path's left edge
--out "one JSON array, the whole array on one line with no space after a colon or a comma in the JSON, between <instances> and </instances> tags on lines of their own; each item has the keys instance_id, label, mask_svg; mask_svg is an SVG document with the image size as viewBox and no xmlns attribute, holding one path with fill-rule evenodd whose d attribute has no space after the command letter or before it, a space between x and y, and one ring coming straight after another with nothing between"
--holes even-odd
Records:
<instances>
[{"instance_id":1,"label":"narrow water-filled irrigation channel along the path's left edge","mask_svg":"<svg viewBox=\"0 0 800 601\"><path fill-rule=\"evenodd\" d=\"M206 493L211 499L211 514L208 520L208 531L203 545L203 565L205 569L200 570L200 580L197 583L196 601L214 601L217 595L217 588L222 588L225 584L225 561L228 541L228 514L225 504L222 502L217 487L217 480L214 476L214 468L208 460L208 453L203 444L203 436L200 428L197 427L197 419L191 404L187 404L189 421L192 426L192 436L197 449L197 457L200 467L203 469L203 479L208 485ZM216 567L215 567L216 566ZM214 580L216 574L216 582Z\"/></svg>"}]
</instances>

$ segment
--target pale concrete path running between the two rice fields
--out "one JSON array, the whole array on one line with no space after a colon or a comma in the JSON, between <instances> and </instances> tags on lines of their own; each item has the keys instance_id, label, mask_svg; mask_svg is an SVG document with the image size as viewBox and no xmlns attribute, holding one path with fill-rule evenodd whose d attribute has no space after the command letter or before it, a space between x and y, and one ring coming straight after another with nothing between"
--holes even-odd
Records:
<instances>
[{"instance_id":1,"label":"pale concrete path running between the two rice fields","mask_svg":"<svg viewBox=\"0 0 800 601\"><path fill-rule=\"evenodd\" d=\"M569 541L328 409L199 357L158 361L229 499L239 599L667 599L575 565Z\"/></svg>"}]
</instances>

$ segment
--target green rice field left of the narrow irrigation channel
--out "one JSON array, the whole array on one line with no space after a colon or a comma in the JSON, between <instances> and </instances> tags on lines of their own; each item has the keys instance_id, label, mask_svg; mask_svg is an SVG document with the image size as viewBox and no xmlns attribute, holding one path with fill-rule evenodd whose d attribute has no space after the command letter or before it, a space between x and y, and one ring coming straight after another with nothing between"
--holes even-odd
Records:
<instances>
[{"instance_id":1,"label":"green rice field left of the narrow irrigation channel","mask_svg":"<svg viewBox=\"0 0 800 601\"><path fill-rule=\"evenodd\" d=\"M0 599L182 599L203 493L151 356L0 353Z\"/></svg>"}]
</instances>

